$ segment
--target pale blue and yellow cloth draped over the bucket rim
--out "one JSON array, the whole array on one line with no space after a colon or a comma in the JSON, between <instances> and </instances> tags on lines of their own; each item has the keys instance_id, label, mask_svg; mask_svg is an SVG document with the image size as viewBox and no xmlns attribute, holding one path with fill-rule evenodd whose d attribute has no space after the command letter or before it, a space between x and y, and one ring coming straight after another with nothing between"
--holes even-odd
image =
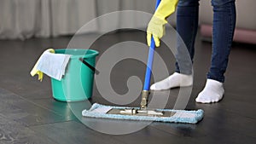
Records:
<instances>
[{"instance_id":1,"label":"pale blue and yellow cloth draped over the bucket rim","mask_svg":"<svg viewBox=\"0 0 256 144\"><path fill-rule=\"evenodd\" d=\"M30 74L35 76L38 74L38 80L43 80L43 75L46 74L50 78L61 80L65 75L65 69L71 55L55 54L54 49L46 49L40 56L35 66L33 66Z\"/></svg>"}]
</instances>

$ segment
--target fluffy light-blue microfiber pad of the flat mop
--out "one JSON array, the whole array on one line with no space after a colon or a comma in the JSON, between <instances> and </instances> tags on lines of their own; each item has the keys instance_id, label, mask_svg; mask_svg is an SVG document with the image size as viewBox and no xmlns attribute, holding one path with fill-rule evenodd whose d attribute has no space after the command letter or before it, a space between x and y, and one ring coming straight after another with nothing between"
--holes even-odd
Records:
<instances>
[{"instance_id":1,"label":"fluffy light-blue microfiber pad of the flat mop","mask_svg":"<svg viewBox=\"0 0 256 144\"><path fill-rule=\"evenodd\" d=\"M164 112L176 112L171 117L154 117L154 116L135 116L135 115L122 115L122 114L108 114L111 108L125 109L125 108L139 108L139 107L112 107L95 103L89 110L84 110L82 115L90 118L113 118L113 119L126 119L126 120L143 120L143 121L157 121L169 123L189 123L196 124L203 118L203 110L185 111L185 110L171 110L171 109L156 109Z\"/></svg>"}]
</instances>

